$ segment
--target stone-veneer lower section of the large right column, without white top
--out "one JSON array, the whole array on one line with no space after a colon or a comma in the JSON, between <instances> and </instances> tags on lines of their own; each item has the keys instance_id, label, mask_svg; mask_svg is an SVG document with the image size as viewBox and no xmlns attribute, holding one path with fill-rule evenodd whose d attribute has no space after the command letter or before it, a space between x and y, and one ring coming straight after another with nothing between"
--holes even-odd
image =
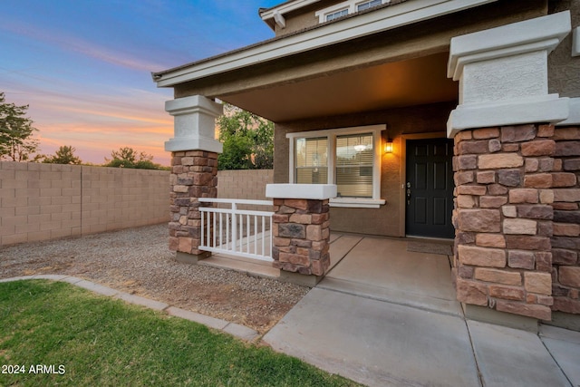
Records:
<instances>
[{"instance_id":1,"label":"stone-veneer lower section of the large right column, without white top","mask_svg":"<svg viewBox=\"0 0 580 387\"><path fill-rule=\"evenodd\" d=\"M520 125L455 136L460 302L550 320L553 132Z\"/></svg>"}]
</instances>

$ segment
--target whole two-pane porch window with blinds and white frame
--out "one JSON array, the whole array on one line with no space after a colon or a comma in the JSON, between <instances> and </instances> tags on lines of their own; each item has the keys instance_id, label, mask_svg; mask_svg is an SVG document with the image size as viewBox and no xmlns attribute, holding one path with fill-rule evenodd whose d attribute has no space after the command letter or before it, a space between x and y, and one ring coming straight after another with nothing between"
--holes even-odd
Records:
<instances>
[{"instance_id":1,"label":"whole two-pane porch window with blinds and white frame","mask_svg":"<svg viewBox=\"0 0 580 387\"><path fill-rule=\"evenodd\" d=\"M289 133L290 182L336 184L334 207L379 208L385 125Z\"/></svg>"}]
</instances>

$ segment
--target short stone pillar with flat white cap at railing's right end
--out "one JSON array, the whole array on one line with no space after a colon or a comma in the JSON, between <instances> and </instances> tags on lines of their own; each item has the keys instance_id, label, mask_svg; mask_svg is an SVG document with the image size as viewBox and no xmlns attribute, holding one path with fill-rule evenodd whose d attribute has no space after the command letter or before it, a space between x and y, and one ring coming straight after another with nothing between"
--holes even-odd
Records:
<instances>
[{"instance_id":1,"label":"short stone pillar with flat white cap at railing's right end","mask_svg":"<svg viewBox=\"0 0 580 387\"><path fill-rule=\"evenodd\" d=\"M268 184L274 199L273 266L280 279L314 286L330 266L328 199L336 197L333 184Z\"/></svg>"}]
</instances>

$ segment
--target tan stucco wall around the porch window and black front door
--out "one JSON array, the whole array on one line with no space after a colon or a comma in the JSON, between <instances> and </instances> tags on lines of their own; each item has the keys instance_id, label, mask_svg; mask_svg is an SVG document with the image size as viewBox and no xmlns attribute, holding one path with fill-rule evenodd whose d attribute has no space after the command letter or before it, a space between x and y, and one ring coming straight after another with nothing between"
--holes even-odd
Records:
<instances>
[{"instance_id":1,"label":"tan stucco wall around the porch window and black front door","mask_svg":"<svg viewBox=\"0 0 580 387\"><path fill-rule=\"evenodd\" d=\"M404 203L401 203L400 196L401 184L405 180L401 176L401 162L404 162L401 136L446 131L449 112L456 106L457 102L442 102L343 117L276 123L274 180L276 183L287 183L289 179L289 140L285 137L286 133L386 123L388 135L394 143L394 152L382 155L381 197L387 203L378 209L331 208L331 228L338 232L401 237L404 235L404 227L401 227Z\"/></svg>"}]
</instances>

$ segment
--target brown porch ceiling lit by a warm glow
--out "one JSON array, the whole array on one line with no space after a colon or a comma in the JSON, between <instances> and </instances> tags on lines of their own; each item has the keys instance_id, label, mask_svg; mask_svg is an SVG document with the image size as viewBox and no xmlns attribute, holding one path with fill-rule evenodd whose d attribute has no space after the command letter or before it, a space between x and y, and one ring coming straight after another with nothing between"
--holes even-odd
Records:
<instances>
[{"instance_id":1,"label":"brown porch ceiling lit by a warm glow","mask_svg":"<svg viewBox=\"0 0 580 387\"><path fill-rule=\"evenodd\" d=\"M383 63L219 97L270 121L295 121L458 99L449 53Z\"/></svg>"}]
</instances>

